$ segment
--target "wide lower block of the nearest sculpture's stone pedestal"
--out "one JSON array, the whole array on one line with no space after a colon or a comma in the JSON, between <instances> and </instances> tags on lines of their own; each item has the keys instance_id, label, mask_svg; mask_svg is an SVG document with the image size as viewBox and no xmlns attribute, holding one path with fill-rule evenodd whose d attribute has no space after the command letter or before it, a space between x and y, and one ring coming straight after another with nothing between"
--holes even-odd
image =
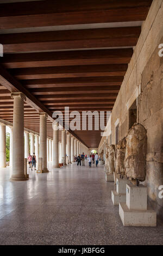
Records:
<instances>
[{"instance_id":1,"label":"wide lower block of the nearest sculpture's stone pedestal","mask_svg":"<svg viewBox=\"0 0 163 256\"><path fill-rule=\"evenodd\" d=\"M124 226L156 227L156 212L152 209L129 210L126 203L120 203L119 214Z\"/></svg>"}]
</instances>

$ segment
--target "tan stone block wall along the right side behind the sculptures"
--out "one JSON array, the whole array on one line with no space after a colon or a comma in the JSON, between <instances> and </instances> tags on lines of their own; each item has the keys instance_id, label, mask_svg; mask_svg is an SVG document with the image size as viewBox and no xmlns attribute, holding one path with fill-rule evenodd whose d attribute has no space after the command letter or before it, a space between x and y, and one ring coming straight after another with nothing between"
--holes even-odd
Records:
<instances>
[{"instance_id":1,"label":"tan stone block wall along the right side behind the sculptures","mask_svg":"<svg viewBox=\"0 0 163 256\"><path fill-rule=\"evenodd\" d=\"M137 122L147 129L148 203L163 216L163 199L158 187L163 185L163 1L154 0L128 65L120 92L111 113L112 144L115 144L115 123L119 119L119 139L129 130L129 108L136 100ZM100 145L102 145L103 140Z\"/></svg>"}]
</instances>

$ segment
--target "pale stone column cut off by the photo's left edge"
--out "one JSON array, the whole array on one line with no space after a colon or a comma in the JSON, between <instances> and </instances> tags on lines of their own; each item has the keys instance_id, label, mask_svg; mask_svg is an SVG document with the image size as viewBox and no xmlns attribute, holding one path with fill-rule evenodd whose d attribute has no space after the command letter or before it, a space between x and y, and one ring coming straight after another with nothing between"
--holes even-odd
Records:
<instances>
[{"instance_id":1,"label":"pale stone column cut off by the photo's left edge","mask_svg":"<svg viewBox=\"0 0 163 256\"><path fill-rule=\"evenodd\" d=\"M6 127L0 125L0 167L6 167Z\"/></svg>"}]
</instances>

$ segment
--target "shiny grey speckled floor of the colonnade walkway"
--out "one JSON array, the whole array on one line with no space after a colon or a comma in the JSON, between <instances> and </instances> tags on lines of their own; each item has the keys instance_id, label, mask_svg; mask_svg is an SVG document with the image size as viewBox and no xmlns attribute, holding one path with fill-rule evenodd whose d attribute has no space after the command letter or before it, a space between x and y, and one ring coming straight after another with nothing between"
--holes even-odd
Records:
<instances>
[{"instance_id":1,"label":"shiny grey speckled floor of the colonnade walkway","mask_svg":"<svg viewBox=\"0 0 163 256\"><path fill-rule=\"evenodd\" d=\"M159 220L157 227L123 227L103 166L48 169L20 182L9 181L10 168L0 169L1 245L162 244Z\"/></svg>"}]
</instances>

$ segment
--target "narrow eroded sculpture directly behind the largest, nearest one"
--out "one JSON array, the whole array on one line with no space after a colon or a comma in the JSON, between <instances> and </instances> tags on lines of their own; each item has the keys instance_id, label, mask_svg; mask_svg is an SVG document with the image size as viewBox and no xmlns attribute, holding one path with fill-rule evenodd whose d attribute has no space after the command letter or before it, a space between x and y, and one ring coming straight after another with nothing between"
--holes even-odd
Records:
<instances>
[{"instance_id":1,"label":"narrow eroded sculpture directly behind the largest, nearest one","mask_svg":"<svg viewBox=\"0 0 163 256\"><path fill-rule=\"evenodd\" d=\"M124 137L121 139L118 144L116 144L116 168L115 172L116 174L120 174L122 176L125 175L125 169L124 169L124 157L126 154L126 138Z\"/></svg>"}]
</instances>

